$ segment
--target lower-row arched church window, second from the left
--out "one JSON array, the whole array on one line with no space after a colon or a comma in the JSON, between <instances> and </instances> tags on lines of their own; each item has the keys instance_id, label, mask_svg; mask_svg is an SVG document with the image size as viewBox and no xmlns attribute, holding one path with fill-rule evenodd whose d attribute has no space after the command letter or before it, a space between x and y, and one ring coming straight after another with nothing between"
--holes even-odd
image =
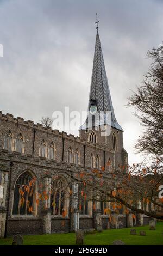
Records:
<instances>
[{"instance_id":1,"label":"lower-row arched church window, second from the left","mask_svg":"<svg viewBox=\"0 0 163 256\"><path fill-rule=\"evenodd\" d=\"M67 209L68 187L63 178L53 181L52 196L51 196L51 209L53 215L62 215L63 211ZM68 211L66 212L66 215Z\"/></svg>"}]
</instances>

